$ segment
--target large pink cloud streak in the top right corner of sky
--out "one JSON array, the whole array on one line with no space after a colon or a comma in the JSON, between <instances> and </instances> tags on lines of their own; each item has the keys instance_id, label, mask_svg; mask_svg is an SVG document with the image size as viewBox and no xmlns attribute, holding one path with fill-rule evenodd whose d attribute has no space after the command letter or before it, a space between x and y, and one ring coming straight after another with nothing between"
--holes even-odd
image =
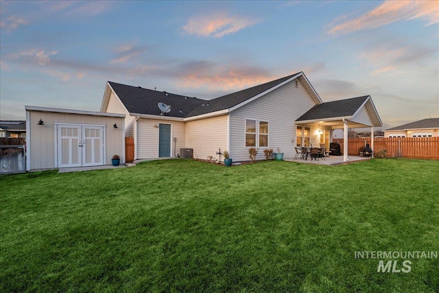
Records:
<instances>
[{"instance_id":1,"label":"large pink cloud streak in the top right corner of sky","mask_svg":"<svg viewBox=\"0 0 439 293\"><path fill-rule=\"evenodd\" d=\"M339 18L340 21L346 17ZM339 24L332 23L328 34L348 34L368 30L395 21L420 19L427 25L439 22L439 5L436 1L385 1L374 10Z\"/></svg>"}]
</instances>

